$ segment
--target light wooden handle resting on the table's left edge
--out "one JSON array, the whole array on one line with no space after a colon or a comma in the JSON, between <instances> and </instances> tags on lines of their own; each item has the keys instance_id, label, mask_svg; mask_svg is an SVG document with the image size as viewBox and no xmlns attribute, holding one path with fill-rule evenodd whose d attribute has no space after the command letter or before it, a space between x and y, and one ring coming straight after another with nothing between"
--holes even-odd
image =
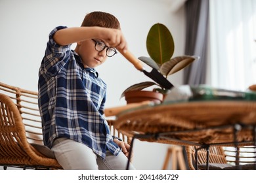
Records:
<instances>
[{"instance_id":1,"label":"light wooden handle resting on the table's left edge","mask_svg":"<svg viewBox=\"0 0 256 183\"><path fill-rule=\"evenodd\" d=\"M143 101L141 103L129 103L127 105L120 106L120 107L105 108L104 114L105 114L106 117L116 116L116 114L118 114L119 112L122 112L123 110L128 110L128 109L134 108L134 107L140 107L142 105L150 105L152 103L154 103L154 102L152 102L152 101Z\"/></svg>"}]
</instances>

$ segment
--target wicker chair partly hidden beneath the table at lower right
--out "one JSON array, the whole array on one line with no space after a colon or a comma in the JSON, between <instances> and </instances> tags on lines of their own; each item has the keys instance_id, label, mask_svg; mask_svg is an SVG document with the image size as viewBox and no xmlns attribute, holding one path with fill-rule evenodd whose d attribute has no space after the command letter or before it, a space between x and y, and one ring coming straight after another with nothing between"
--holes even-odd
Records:
<instances>
[{"instance_id":1,"label":"wicker chair partly hidden beneath the table at lower right","mask_svg":"<svg viewBox=\"0 0 256 183\"><path fill-rule=\"evenodd\" d=\"M197 158L196 158L196 149ZM236 153L238 152L238 154ZM210 146L209 148L209 169L256 169L256 156L254 146L243 147L222 147ZM188 167L192 170L207 169L207 151L198 146L186 146ZM236 159L239 161L236 161ZM197 163L196 163L197 159ZM196 164L198 166L196 166Z\"/></svg>"}]
</instances>

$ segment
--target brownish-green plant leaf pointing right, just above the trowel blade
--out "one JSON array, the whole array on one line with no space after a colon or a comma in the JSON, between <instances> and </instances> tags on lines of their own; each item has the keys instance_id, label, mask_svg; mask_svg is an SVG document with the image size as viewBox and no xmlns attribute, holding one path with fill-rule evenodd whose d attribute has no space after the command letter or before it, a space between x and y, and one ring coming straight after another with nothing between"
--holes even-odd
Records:
<instances>
[{"instance_id":1,"label":"brownish-green plant leaf pointing right, just above the trowel blade","mask_svg":"<svg viewBox=\"0 0 256 183\"><path fill-rule=\"evenodd\" d=\"M177 73L184 67L188 66L190 63L192 63L196 59L199 59L199 57L179 56L179 57L173 58L163 63L163 65L161 65L160 72L162 75L165 75L165 76L172 75L174 73Z\"/></svg>"}]
</instances>

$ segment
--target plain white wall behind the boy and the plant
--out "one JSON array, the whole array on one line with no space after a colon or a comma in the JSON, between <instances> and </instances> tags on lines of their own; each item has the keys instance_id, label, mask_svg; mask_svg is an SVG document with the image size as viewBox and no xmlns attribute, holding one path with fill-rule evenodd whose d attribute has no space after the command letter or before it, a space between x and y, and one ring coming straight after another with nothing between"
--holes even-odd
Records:
<instances>
[{"instance_id":1,"label":"plain white wall behind the boy and the plant","mask_svg":"<svg viewBox=\"0 0 256 183\"><path fill-rule=\"evenodd\" d=\"M184 8L173 12L173 3L174 0L1 0L0 82L37 91L37 73L49 32L57 25L79 26L85 14L95 10L110 12L119 19L129 50L135 56L148 56L146 35L156 23L169 28L175 40L174 56L180 56L184 54ZM119 99L123 90L131 84L150 80L121 54L108 59L97 70L108 84L106 107L125 105L124 99ZM175 85L182 84L182 71L169 80ZM135 141L135 167L161 169L166 147Z\"/></svg>"}]
</instances>

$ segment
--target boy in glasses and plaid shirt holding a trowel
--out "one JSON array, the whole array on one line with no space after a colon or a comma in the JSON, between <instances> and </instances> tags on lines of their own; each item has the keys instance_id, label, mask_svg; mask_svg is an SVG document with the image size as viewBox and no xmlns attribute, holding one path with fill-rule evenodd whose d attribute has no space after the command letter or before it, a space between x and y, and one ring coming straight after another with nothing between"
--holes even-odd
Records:
<instances>
[{"instance_id":1,"label":"boy in glasses and plaid shirt holding a trowel","mask_svg":"<svg viewBox=\"0 0 256 183\"><path fill-rule=\"evenodd\" d=\"M125 169L129 144L110 135L102 116L106 84L95 70L116 48L125 52L127 42L106 12L91 12L81 27L56 27L49 35L39 69L39 110L44 143L64 169Z\"/></svg>"}]
</instances>

